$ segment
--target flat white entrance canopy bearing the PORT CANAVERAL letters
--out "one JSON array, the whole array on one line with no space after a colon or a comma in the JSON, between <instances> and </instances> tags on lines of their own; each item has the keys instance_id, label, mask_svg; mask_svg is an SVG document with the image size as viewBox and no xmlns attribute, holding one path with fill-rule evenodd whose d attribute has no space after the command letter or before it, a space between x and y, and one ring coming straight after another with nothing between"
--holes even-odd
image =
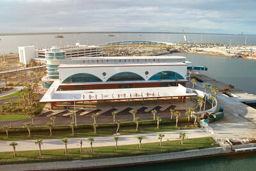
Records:
<instances>
[{"instance_id":1,"label":"flat white entrance canopy bearing the PORT CANAVERAL letters","mask_svg":"<svg viewBox=\"0 0 256 171\"><path fill-rule=\"evenodd\" d=\"M56 85L56 86L55 86ZM93 89L77 91L56 91L58 81L55 81L44 94L40 103L67 101L102 101L102 100L132 100L144 98L171 98L196 96L191 89L179 84L177 87L149 87L129 89Z\"/></svg>"}]
</instances>

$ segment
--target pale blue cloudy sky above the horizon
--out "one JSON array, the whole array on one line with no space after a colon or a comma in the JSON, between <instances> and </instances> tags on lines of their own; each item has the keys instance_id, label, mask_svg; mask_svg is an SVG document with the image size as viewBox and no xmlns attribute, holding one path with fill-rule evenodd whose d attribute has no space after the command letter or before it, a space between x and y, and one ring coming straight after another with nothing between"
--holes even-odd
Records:
<instances>
[{"instance_id":1,"label":"pale blue cloudy sky above the horizon","mask_svg":"<svg viewBox=\"0 0 256 171\"><path fill-rule=\"evenodd\" d=\"M0 33L256 34L255 0L0 0Z\"/></svg>"}]
</instances>

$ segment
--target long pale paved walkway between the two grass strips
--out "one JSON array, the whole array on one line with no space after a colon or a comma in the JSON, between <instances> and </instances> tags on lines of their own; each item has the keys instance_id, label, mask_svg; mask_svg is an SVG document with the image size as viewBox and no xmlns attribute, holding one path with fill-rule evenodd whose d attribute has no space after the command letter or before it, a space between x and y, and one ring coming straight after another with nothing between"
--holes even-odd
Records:
<instances>
[{"instance_id":1,"label":"long pale paved walkway between the two grass strips","mask_svg":"<svg viewBox=\"0 0 256 171\"><path fill-rule=\"evenodd\" d=\"M177 130L177 131L164 131L156 133L140 133L140 134L131 134L131 135L120 135L118 139L118 145L128 145L128 144L138 144L138 136L142 136L142 144L148 142L159 142L158 135L164 134L163 141L168 140L177 140L179 139L179 134L185 132L188 135L188 138L200 138L200 137L209 137L207 133L200 129L190 129L190 130ZM115 145L113 136L104 136L104 137L93 137L93 147L102 147L102 146L111 146ZM62 138L58 139L46 139L43 140L42 150L45 149L64 149L65 145L61 142ZM83 147L90 147L90 143L87 138L68 138L68 149L70 148L79 148L79 142L83 140ZM10 147L10 143L13 141L0 141L0 152L13 151ZM35 145L35 140L17 140L18 143L16 151L30 151L38 150L38 145Z\"/></svg>"}]
</instances>

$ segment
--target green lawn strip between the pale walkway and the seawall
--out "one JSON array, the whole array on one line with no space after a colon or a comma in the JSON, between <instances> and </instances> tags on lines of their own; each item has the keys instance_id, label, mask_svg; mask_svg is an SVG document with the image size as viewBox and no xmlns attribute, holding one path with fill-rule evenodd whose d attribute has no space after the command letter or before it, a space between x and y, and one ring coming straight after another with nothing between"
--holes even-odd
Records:
<instances>
[{"instance_id":1,"label":"green lawn strip between the pale walkway and the seawall","mask_svg":"<svg viewBox=\"0 0 256 171\"><path fill-rule=\"evenodd\" d=\"M88 143L85 142L84 143ZM134 142L137 143L137 142ZM214 145L212 145L214 144ZM65 145L63 149L43 150L42 156L38 156L38 151L18 151L17 157L13 158L13 152L0 152L0 164L12 163L33 163L47 161L67 161L67 160L90 160L97 158L113 158L123 156L138 156L145 154L157 154L164 152L186 151L191 149L204 149L216 146L211 137L193 138L184 140L184 144L180 144L180 140L163 142L162 147L159 147L159 142L144 143L142 140L142 148L139 149L138 144L120 145L118 151L115 151L115 146L108 147L93 147L93 153L90 148L83 148L83 152L79 153L79 149L68 149L68 154L65 154ZM67 144L68 147L68 144ZM44 144L42 145L44 148ZM19 149L17 145L16 149Z\"/></svg>"}]
</instances>

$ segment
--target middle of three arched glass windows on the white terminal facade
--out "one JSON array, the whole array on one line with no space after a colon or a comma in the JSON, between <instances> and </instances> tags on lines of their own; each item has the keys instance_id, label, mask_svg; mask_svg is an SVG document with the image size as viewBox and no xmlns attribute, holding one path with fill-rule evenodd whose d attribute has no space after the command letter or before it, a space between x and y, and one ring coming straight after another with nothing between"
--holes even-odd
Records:
<instances>
[{"instance_id":1,"label":"middle of three arched glass windows on the white terminal facade","mask_svg":"<svg viewBox=\"0 0 256 171\"><path fill-rule=\"evenodd\" d=\"M116 73L112 77L108 78L107 82L112 81L135 81L135 80L145 80L140 75L131 72Z\"/></svg>"}]
</instances>

